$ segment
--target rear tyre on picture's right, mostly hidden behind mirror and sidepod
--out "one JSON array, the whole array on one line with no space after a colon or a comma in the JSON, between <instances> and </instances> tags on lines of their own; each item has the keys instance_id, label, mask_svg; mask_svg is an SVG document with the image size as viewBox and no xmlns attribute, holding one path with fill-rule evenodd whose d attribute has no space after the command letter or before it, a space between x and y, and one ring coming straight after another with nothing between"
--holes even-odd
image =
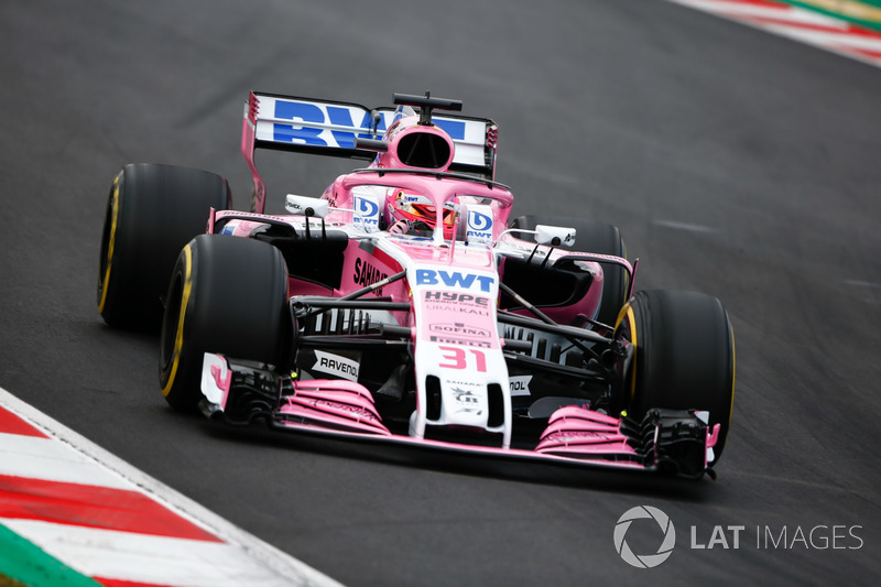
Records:
<instances>
[{"instance_id":1,"label":"rear tyre on picture's right, mostly hidden behind mirror and sidepod","mask_svg":"<svg viewBox=\"0 0 881 587\"><path fill-rule=\"evenodd\" d=\"M511 228L534 230L536 225L574 228L575 246L572 247L574 251L627 257L624 241L617 226L565 216L521 216L511 222ZM524 240L527 237L527 235L521 236ZM597 320L612 325L621 311L621 306L627 302L628 273L623 267L614 263L600 263L600 267L602 268L603 284Z\"/></svg>"}]
</instances>

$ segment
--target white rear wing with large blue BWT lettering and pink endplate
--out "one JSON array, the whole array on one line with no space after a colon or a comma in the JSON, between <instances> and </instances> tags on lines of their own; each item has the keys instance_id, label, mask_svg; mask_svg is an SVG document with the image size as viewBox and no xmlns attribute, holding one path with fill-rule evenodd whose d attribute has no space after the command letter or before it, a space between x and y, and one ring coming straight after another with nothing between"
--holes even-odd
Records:
<instances>
[{"instance_id":1,"label":"white rear wing with large blue BWT lettering and pink endplate","mask_svg":"<svg viewBox=\"0 0 881 587\"><path fill-rule=\"evenodd\" d=\"M251 210L262 213L265 202L265 187L254 166L257 149L372 161L376 151L357 149L355 139L382 139L394 113L390 107L370 109L358 104L252 91L244 105L241 137L241 151L254 180ZM450 172L494 178L498 127L492 120L445 112L434 115L432 122L444 129L456 145Z\"/></svg>"}]
</instances>

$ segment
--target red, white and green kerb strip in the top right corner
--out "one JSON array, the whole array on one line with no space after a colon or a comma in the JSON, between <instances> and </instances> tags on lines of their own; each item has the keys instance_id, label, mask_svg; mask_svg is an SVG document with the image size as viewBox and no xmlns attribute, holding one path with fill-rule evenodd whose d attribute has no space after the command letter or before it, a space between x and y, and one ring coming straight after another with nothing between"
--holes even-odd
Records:
<instances>
[{"instance_id":1,"label":"red, white and green kerb strip in the top right corner","mask_svg":"<svg viewBox=\"0 0 881 587\"><path fill-rule=\"evenodd\" d=\"M668 0L881 67L881 0Z\"/></svg>"}]
</instances>

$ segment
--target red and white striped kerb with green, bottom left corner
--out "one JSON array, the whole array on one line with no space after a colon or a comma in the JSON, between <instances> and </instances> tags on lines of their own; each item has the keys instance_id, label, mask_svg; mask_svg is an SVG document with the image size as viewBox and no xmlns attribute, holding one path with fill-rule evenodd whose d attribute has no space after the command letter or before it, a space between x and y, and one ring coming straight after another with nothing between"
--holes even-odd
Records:
<instances>
[{"instance_id":1,"label":"red and white striped kerb with green, bottom left corner","mask_svg":"<svg viewBox=\"0 0 881 587\"><path fill-rule=\"evenodd\" d=\"M0 586L335 586L0 388Z\"/></svg>"}]
</instances>

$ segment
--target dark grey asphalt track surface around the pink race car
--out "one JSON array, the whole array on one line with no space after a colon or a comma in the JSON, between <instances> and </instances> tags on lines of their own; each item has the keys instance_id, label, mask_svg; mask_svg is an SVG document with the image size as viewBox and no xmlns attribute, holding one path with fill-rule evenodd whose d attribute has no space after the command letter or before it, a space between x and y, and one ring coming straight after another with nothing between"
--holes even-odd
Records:
<instances>
[{"instance_id":1,"label":"dark grey asphalt track surface around the pink race car","mask_svg":"<svg viewBox=\"0 0 881 587\"><path fill-rule=\"evenodd\" d=\"M660 0L36 0L0 4L0 385L149 475L349 585L877 584L878 68ZM96 309L107 191L167 162L247 207L250 89L460 98L500 124L519 213L617 224L640 289L719 296L738 387L718 481L370 458L167 409L156 337ZM276 204L349 166L262 161ZM677 531L652 569L612 542L640 504Z\"/></svg>"}]
</instances>

